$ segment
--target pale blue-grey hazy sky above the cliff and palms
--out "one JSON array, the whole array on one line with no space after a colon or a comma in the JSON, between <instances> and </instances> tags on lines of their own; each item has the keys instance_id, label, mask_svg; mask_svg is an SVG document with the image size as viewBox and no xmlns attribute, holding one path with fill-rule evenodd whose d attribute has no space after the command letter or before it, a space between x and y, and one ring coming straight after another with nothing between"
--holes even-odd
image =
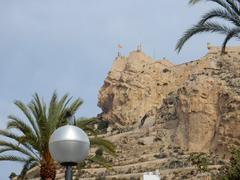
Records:
<instances>
[{"instance_id":1,"label":"pale blue-grey hazy sky above the cliff and palms","mask_svg":"<svg viewBox=\"0 0 240 180\"><path fill-rule=\"evenodd\" d=\"M182 63L207 53L218 35L196 36L180 54L174 51L182 33L211 8L187 0L1 0L0 128L7 115L19 114L16 99L28 103L34 92L46 100L57 90L84 100L79 116L100 112L98 90L117 55L143 44L156 59ZM0 179L19 172L21 164L0 162Z\"/></svg>"}]
</instances>

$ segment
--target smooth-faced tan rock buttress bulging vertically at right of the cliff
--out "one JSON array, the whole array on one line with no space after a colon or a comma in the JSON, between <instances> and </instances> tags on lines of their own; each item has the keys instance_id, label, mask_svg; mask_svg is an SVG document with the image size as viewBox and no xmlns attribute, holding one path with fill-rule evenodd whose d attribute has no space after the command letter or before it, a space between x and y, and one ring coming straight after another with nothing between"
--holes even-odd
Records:
<instances>
[{"instance_id":1,"label":"smooth-faced tan rock buttress bulging vertically at right of the cliff","mask_svg":"<svg viewBox=\"0 0 240 180\"><path fill-rule=\"evenodd\" d=\"M190 151L209 151L216 133L218 80L199 76L178 90L176 143Z\"/></svg>"}]
</instances>

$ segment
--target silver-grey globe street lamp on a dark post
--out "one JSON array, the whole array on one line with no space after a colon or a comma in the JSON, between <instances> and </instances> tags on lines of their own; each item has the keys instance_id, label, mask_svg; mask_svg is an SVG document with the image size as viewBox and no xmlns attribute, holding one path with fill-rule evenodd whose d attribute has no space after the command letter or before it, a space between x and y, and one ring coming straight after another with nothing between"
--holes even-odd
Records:
<instances>
[{"instance_id":1,"label":"silver-grey globe street lamp on a dark post","mask_svg":"<svg viewBox=\"0 0 240 180\"><path fill-rule=\"evenodd\" d=\"M49 151L55 161L66 166L65 180L72 180L72 166L87 157L89 146L87 134L76 126L62 126L53 132Z\"/></svg>"}]
</instances>

